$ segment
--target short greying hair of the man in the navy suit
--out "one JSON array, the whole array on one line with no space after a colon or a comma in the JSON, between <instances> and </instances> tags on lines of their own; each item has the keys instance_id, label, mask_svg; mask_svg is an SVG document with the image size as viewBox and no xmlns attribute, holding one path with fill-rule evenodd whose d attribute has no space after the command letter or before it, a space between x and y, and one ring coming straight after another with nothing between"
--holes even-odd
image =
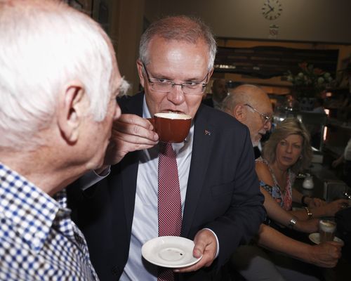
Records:
<instances>
[{"instance_id":1,"label":"short greying hair of the man in the navy suit","mask_svg":"<svg viewBox=\"0 0 351 281\"><path fill-rule=\"evenodd\" d=\"M208 71L213 68L217 51L216 40L210 28L198 18L178 15L152 22L140 39L139 59L145 65L149 63L148 47L150 41L156 36L169 41L187 41L192 44L197 43L199 40L204 40L208 45Z\"/></svg>"}]
</instances>

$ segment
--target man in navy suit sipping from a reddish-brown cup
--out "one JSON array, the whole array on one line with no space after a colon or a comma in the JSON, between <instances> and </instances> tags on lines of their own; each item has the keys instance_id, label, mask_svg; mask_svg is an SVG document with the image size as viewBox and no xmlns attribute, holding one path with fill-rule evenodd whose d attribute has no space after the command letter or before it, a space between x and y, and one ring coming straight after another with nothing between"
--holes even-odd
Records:
<instances>
[{"instance_id":1,"label":"man in navy suit sipping from a reddish-brown cup","mask_svg":"<svg viewBox=\"0 0 351 281\"><path fill-rule=\"evenodd\" d=\"M145 92L118 100L123 114L114 123L114 143L106 155L108 164L118 164L81 201L72 202L101 280L157 280L157 266L141 256L142 245L158 235L159 145L146 119L157 112L192 117L189 135L173 143L173 150L183 214L180 236L194 240L192 254L202 259L176 269L176 280L219 280L234 249L263 221L249 130L201 105L215 55L213 34L197 19L164 18L143 34L137 67Z\"/></svg>"}]
</instances>

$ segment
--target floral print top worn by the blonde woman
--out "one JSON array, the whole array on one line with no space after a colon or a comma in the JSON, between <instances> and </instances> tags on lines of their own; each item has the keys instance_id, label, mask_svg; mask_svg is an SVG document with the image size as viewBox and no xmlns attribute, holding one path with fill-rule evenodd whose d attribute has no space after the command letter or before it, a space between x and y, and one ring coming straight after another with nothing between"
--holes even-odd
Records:
<instances>
[{"instance_id":1,"label":"floral print top worn by the blonde woman","mask_svg":"<svg viewBox=\"0 0 351 281\"><path fill-rule=\"evenodd\" d=\"M288 177L286 178L286 187L284 192L282 192L279 184L277 182L277 178L275 178L274 172L271 169L270 165L268 164L267 160L259 157L256 159L256 162L262 162L267 165L268 169L270 170L270 174L272 175L274 186L268 185L264 181L260 181L260 186L265 188L267 192L274 198L274 200L286 211L290 211L293 204L293 182L295 181L296 174L293 173L291 170L288 171Z\"/></svg>"}]
</instances>

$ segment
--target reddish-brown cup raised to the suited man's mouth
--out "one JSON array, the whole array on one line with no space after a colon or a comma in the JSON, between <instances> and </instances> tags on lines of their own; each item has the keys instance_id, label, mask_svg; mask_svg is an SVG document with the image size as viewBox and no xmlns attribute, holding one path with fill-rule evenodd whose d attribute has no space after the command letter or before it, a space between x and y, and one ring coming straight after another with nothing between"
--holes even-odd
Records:
<instances>
[{"instance_id":1,"label":"reddish-brown cup raised to the suited man's mouth","mask_svg":"<svg viewBox=\"0 0 351 281\"><path fill-rule=\"evenodd\" d=\"M192 117L178 113L156 113L148 120L159 135L159 141L164 143L181 143L185 140L192 125Z\"/></svg>"}]
</instances>

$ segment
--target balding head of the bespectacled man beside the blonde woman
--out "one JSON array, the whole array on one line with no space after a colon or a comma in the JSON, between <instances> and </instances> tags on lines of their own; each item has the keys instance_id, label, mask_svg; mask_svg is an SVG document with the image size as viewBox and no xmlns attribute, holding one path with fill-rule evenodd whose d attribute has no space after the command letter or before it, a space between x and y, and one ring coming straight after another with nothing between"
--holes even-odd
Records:
<instances>
[{"instance_id":1,"label":"balding head of the bespectacled man beside the blonde woman","mask_svg":"<svg viewBox=\"0 0 351 281\"><path fill-rule=\"evenodd\" d=\"M267 93L258 86L244 84L235 88L223 100L223 111L249 128L253 145L258 145L270 130L271 123L266 122L265 117L272 117L272 105Z\"/></svg>"}]
</instances>

